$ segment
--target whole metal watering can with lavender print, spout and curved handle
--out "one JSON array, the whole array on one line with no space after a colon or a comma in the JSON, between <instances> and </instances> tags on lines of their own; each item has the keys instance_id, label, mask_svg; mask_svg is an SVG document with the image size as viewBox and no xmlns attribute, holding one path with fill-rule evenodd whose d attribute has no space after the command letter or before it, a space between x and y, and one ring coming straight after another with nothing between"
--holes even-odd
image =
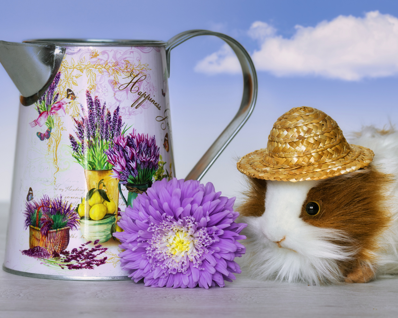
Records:
<instances>
[{"instance_id":1,"label":"whole metal watering can with lavender print, spout and curved handle","mask_svg":"<svg viewBox=\"0 0 398 318\"><path fill-rule=\"evenodd\" d=\"M138 193L175 176L170 51L198 35L230 45L244 83L237 114L186 177L199 180L256 103L256 71L237 41L205 30L168 42L0 41L0 62L21 93L5 271L49 279L129 279L112 233L123 231L119 211Z\"/></svg>"}]
</instances>

